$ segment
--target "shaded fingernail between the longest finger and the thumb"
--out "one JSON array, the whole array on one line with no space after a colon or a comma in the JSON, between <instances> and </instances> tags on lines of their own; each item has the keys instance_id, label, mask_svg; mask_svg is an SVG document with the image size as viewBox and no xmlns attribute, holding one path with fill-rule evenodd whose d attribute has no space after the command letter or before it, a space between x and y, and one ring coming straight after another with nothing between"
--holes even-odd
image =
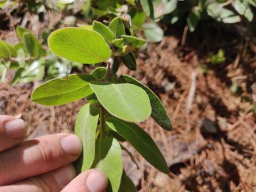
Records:
<instances>
[{"instance_id":1,"label":"shaded fingernail between the longest finger and the thumb","mask_svg":"<svg viewBox=\"0 0 256 192\"><path fill-rule=\"evenodd\" d=\"M53 175L61 186L66 186L76 177L76 170L73 165L66 165L53 171Z\"/></svg>"}]
</instances>

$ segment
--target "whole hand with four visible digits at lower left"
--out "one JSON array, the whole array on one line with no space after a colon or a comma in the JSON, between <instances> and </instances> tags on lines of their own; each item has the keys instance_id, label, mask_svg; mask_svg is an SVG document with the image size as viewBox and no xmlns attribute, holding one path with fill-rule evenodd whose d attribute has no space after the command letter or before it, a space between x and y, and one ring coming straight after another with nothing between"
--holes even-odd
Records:
<instances>
[{"instance_id":1,"label":"whole hand with four visible digits at lower left","mask_svg":"<svg viewBox=\"0 0 256 192\"><path fill-rule=\"evenodd\" d=\"M26 137L22 119L0 115L1 192L103 192L108 180L97 169L76 176L74 162L82 151L74 134Z\"/></svg>"}]
</instances>

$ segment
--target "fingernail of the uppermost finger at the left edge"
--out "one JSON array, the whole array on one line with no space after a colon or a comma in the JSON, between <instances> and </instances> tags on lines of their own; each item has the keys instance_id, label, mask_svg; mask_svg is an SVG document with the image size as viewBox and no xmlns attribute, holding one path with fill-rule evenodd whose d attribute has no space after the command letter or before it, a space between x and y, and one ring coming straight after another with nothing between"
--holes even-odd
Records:
<instances>
[{"instance_id":1,"label":"fingernail of the uppermost finger at the left edge","mask_svg":"<svg viewBox=\"0 0 256 192\"><path fill-rule=\"evenodd\" d=\"M22 119L14 119L5 124L5 134L12 139L19 139L26 136L26 123Z\"/></svg>"}]
</instances>

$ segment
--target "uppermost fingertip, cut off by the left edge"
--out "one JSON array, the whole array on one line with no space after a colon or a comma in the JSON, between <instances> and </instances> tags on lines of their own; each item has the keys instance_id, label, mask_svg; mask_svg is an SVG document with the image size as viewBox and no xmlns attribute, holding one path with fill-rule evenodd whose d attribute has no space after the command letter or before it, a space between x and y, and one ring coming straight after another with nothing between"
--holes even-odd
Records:
<instances>
[{"instance_id":1,"label":"uppermost fingertip, cut off by the left edge","mask_svg":"<svg viewBox=\"0 0 256 192\"><path fill-rule=\"evenodd\" d=\"M26 136L26 124L22 119L0 115L0 152L19 145Z\"/></svg>"}]
</instances>

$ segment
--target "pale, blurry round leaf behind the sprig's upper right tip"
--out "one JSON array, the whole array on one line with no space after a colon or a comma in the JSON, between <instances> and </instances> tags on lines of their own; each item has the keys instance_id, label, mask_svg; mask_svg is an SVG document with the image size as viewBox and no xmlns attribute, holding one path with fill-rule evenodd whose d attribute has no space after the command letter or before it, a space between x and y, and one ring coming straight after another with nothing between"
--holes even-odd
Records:
<instances>
[{"instance_id":1,"label":"pale, blurry round leaf behind the sprig's upper right tip","mask_svg":"<svg viewBox=\"0 0 256 192\"><path fill-rule=\"evenodd\" d=\"M157 23L155 22L145 23L143 27L145 28L144 34L148 41L150 42L162 41L164 37L164 31L161 27L157 25Z\"/></svg>"}]
</instances>

